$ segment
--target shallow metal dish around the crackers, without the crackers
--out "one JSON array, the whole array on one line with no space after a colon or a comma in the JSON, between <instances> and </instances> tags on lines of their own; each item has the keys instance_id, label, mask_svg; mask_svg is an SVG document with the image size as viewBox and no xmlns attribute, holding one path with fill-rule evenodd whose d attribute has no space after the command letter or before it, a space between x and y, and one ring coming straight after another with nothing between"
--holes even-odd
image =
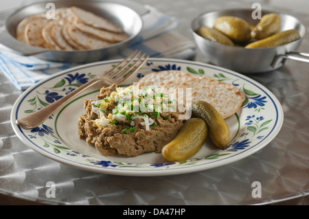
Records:
<instances>
[{"instance_id":1,"label":"shallow metal dish around the crackers, without the crackers","mask_svg":"<svg viewBox=\"0 0 309 219\"><path fill-rule=\"evenodd\" d=\"M128 34L125 41L101 49L86 49L74 51L58 51L32 47L17 41L15 38L16 27L25 17L34 14L46 13L47 3L54 3L56 8L76 6L89 12L102 16L119 25ZM43 60L57 62L94 62L113 56L128 47L133 39L141 32L143 26L141 16L126 5L108 1L44 1L27 5L8 16L0 32L0 43L8 49L23 56L35 56Z\"/></svg>"}]
</instances>

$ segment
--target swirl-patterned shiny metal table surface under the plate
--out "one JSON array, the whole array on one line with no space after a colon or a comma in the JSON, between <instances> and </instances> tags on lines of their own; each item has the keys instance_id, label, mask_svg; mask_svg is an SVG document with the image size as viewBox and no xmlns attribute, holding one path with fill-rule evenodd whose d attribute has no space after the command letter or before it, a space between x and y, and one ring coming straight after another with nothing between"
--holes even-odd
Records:
<instances>
[{"instance_id":1,"label":"swirl-patterned shiny metal table surface under the plate","mask_svg":"<svg viewBox=\"0 0 309 219\"><path fill-rule=\"evenodd\" d=\"M247 7L282 10L299 18L309 32L307 0L209 1L136 0L179 19L176 31L192 38L190 23L201 12ZM3 17L1 16L3 19ZM192 38L193 41L193 38ZM309 51L309 35L299 51ZM196 50L198 61L205 61ZM268 146L219 168L176 176L113 176L77 170L27 148L15 135L10 111L21 94L0 73L0 204L48 205L308 205L309 65L289 60L277 71L251 74L271 90L284 109L284 124ZM47 198L47 181L57 195ZM252 196L259 181L262 196Z\"/></svg>"}]
</instances>

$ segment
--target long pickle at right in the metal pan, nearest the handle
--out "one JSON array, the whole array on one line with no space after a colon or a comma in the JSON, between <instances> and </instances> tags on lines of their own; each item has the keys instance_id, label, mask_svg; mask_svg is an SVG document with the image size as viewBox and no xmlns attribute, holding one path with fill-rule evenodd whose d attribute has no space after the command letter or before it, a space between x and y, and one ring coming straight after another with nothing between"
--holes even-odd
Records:
<instances>
[{"instance_id":1,"label":"long pickle at right in the metal pan, nearest the handle","mask_svg":"<svg viewBox=\"0 0 309 219\"><path fill-rule=\"evenodd\" d=\"M277 47L279 45L285 45L297 41L301 36L297 30L286 30L273 36L268 36L260 41L249 43L245 46L247 49L252 48L264 48L264 47Z\"/></svg>"}]
</instances>

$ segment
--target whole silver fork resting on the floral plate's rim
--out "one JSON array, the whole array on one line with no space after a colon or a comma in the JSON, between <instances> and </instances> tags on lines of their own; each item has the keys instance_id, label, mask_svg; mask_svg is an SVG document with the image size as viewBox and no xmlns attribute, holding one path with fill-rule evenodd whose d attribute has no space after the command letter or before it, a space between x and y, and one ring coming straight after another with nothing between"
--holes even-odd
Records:
<instances>
[{"instance_id":1,"label":"whole silver fork resting on the floral plate's rim","mask_svg":"<svg viewBox=\"0 0 309 219\"><path fill-rule=\"evenodd\" d=\"M17 119L16 124L26 129L36 128L42 124L45 119L47 119L56 110L58 110L58 108L62 107L73 97L76 97L76 95L82 93L93 84L98 82L102 82L103 86L110 86L111 84L122 84L125 80L128 80L130 76L133 76L133 74L144 65L148 58L149 56L146 56L146 54L141 55L141 51L135 50L132 54L122 60L122 62L119 62L115 67L113 67L113 69L100 76L97 76L96 78L93 78L93 80L83 84L75 91L72 91L68 95L65 95L64 97L60 98L52 104L49 104L48 106L41 108L35 113L22 117L21 119Z\"/></svg>"}]
</instances>

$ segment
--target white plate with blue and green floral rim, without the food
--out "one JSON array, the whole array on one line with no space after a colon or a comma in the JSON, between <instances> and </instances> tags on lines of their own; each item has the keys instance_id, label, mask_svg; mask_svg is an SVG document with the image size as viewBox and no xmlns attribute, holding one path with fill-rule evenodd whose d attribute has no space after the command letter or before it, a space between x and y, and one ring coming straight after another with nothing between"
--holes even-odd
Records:
<instances>
[{"instance_id":1,"label":"white plate with blue and green floral rim, without the food","mask_svg":"<svg viewBox=\"0 0 309 219\"><path fill-rule=\"evenodd\" d=\"M137 82L147 73L167 69L187 71L234 84L242 91L244 102L235 115L226 119L231 132L227 147L216 148L207 137L201 150L192 159L182 162L168 162L155 152L137 157L104 157L79 139L77 132L78 117L84 113L84 100L95 98L100 87L85 91L37 128L26 130L16 125L16 119L67 95L118 62L109 60L67 69L27 89L12 108L11 122L16 135L45 157L82 170L126 176L161 176L207 170L238 161L266 146L282 127L282 106L273 93L258 82L220 67L166 58L151 58L127 84Z\"/></svg>"}]
</instances>

